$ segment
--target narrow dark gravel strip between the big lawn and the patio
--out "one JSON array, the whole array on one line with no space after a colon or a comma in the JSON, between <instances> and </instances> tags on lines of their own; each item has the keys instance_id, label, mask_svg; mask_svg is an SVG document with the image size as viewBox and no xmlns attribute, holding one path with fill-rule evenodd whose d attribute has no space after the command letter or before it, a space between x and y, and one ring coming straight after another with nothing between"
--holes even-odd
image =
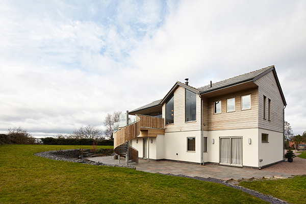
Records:
<instances>
[{"instance_id":1,"label":"narrow dark gravel strip between the big lawn and the patio","mask_svg":"<svg viewBox=\"0 0 306 204\"><path fill-rule=\"evenodd\" d=\"M160 173L160 174L163 174L163 173ZM196 180L205 181L205 182L213 182L213 183L223 184L224 186L236 188L236 189L241 190L241 191L243 191L245 193L248 193L248 194L253 195L255 197L258 197L258 198L260 198L262 200L270 202L272 204L284 204L284 203L288 203L288 202L286 202L284 200L281 200L281 199L278 199L276 197L273 197L272 195L265 195L263 193L260 193L260 192L254 191L254 190L246 189L246 188L244 188L242 186L231 185L231 184L226 183L225 181L218 180L218 179L203 178L203 177L198 177L198 176L190 177L190 176L186 176L186 175L182 175L182 174L181 175L174 175L174 174L170 174L170 173L167 173L167 174L164 174L164 175L180 176L180 177L186 177L186 178L189 178L189 179L196 179Z\"/></svg>"}]
</instances>

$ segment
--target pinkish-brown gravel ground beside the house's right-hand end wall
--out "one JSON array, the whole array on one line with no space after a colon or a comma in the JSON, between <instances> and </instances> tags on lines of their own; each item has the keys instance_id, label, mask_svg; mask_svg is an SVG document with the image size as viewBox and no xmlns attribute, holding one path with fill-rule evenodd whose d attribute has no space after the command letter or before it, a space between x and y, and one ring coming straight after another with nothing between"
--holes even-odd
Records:
<instances>
[{"instance_id":1,"label":"pinkish-brown gravel ground beside the house's right-hand end wall","mask_svg":"<svg viewBox=\"0 0 306 204\"><path fill-rule=\"evenodd\" d=\"M300 153L294 154L300 155ZM264 168L263 171L272 171L272 172L279 172L279 173L288 173L292 175L304 175L306 174L306 159L302 159L299 157L293 158L293 162L282 162L279 164L275 164L273 166L269 166Z\"/></svg>"}]
</instances>

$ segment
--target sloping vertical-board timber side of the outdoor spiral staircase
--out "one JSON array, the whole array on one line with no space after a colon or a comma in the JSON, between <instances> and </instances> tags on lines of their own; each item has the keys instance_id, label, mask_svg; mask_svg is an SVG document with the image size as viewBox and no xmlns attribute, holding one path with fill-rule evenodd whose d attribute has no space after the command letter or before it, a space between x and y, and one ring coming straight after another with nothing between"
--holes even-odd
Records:
<instances>
[{"instance_id":1,"label":"sloping vertical-board timber side of the outdoor spiral staircase","mask_svg":"<svg viewBox=\"0 0 306 204\"><path fill-rule=\"evenodd\" d=\"M122 127L114 133L114 148L117 146L133 140L140 134L140 120L135 123Z\"/></svg>"}]
</instances>

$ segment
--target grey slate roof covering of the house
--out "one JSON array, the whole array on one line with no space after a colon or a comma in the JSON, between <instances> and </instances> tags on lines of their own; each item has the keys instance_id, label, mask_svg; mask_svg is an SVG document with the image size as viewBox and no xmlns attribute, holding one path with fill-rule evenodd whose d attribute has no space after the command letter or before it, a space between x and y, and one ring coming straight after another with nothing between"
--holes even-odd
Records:
<instances>
[{"instance_id":1,"label":"grey slate roof covering of the house","mask_svg":"<svg viewBox=\"0 0 306 204\"><path fill-rule=\"evenodd\" d=\"M207 86L203 86L203 87L200 87L200 88L194 88L194 87L192 87L192 88L195 89L195 90L198 90L200 92L200 94L207 93L207 92L214 91L214 90L217 90L217 89L221 89L221 88L224 88L224 87L228 87L228 86L232 86L232 85L236 85L236 84L240 84L240 83L243 83L243 82L248 82L248 81L254 80L255 78L259 77L261 74L264 74L265 71L268 71L269 69L273 69L273 68L274 68L274 65L263 68L263 69L259 69L259 70L256 70L256 71L252 71L252 72L249 72L249 73L245 73L245 74L239 75L239 76L234 77L234 78L230 78L230 79L227 79L227 80L223 80L221 82L214 83L214 84L212 84L212 87L210 87L210 85L207 85ZM182 82L177 82L177 83L183 84ZM185 84L183 84L183 85L185 85ZM159 106L159 105L161 105L160 103L161 103L162 100L163 99L153 101L152 103L147 104L145 106L142 106L140 108L137 108L137 109L135 109L131 112L136 112L136 111L152 108L152 107L155 107L155 106Z\"/></svg>"}]
</instances>

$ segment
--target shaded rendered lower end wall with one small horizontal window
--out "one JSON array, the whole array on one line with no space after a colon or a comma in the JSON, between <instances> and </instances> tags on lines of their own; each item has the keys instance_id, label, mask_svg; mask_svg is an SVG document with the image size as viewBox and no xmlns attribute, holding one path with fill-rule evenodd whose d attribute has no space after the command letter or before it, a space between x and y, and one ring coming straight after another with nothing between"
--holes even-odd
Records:
<instances>
[{"instance_id":1,"label":"shaded rendered lower end wall with one small horizontal window","mask_svg":"<svg viewBox=\"0 0 306 204\"><path fill-rule=\"evenodd\" d=\"M262 133L269 134L268 143L262 142ZM259 129L258 143L260 167L283 160L283 133Z\"/></svg>"}]
</instances>

